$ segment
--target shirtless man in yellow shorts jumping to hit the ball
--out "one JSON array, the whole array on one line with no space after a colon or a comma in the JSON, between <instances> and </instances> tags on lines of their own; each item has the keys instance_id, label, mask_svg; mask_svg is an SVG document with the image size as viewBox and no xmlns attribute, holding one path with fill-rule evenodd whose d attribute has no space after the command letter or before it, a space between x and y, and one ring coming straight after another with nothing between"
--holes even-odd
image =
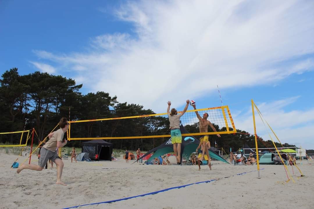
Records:
<instances>
[{"instance_id":1,"label":"shirtless man in yellow shorts jumping to hit the ball","mask_svg":"<svg viewBox=\"0 0 314 209\"><path fill-rule=\"evenodd\" d=\"M196 105L193 105L193 108L194 110L196 110ZM212 123L210 123L210 121L207 120L208 118L208 113L204 113L203 114L203 118L198 114L197 111L195 111L195 114L199 120L199 133L204 133L204 132L208 132L208 125L213 129L214 132L217 132L216 131L216 128L213 126ZM218 137L220 137L219 134L217 134ZM210 143L208 141L208 135L204 135L204 136L201 136L201 138L199 139L200 142L202 143L203 145L203 153L202 153L202 156L200 158L200 160L203 160L204 159L204 154L206 152L208 158L209 158L209 153L208 153L208 149L210 148ZM196 149L197 151L198 149ZM210 163L210 162L209 162Z\"/></svg>"}]
</instances>

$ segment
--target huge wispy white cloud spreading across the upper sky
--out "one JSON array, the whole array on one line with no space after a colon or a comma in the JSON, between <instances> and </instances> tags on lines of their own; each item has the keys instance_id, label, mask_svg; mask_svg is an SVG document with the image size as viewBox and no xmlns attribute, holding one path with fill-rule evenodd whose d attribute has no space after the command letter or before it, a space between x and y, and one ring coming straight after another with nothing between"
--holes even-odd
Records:
<instances>
[{"instance_id":1,"label":"huge wispy white cloud spreading across the upper sky","mask_svg":"<svg viewBox=\"0 0 314 209\"><path fill-rule=\"evenodd\" d=\"M129 2L115 15L134 25L135 37L99 35L88 53L34 52L91 91L164 111L166 101L183 106L217 83L261 85L313 70L313 59L302 58L314 52L313 11L313 1Z\"/></svg>"}]
</instances>

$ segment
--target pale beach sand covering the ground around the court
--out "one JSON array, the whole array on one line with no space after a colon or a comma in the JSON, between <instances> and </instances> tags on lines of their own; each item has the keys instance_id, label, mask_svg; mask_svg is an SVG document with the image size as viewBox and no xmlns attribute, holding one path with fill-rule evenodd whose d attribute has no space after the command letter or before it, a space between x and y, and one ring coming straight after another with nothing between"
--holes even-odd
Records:
<instances>
[{"instance_id":1,"label":"pale beach sand covering the ground around the court","mask_svg":"<svg viewBox=\"0 0 314 209\"><path fill-rule=\"evenodd\" d=\"M19 157L0 154L0 208L65 208L143 195L171 187L186 187L163 191L154 195L128 200L80 206L82 209L100 208L283 208L314 207L314 166L302 160L298 165L305 177L294 166L293 178L282 165L260 165L261 179L257 179L257 165L233 166L215 164L212 170L202 165L142 165L129 160L77 162L64 161L62 181L56 185L56 165L42 171L11 169ZM28 162L28 161L27 161ZM31 163L37 164L37 156ZM301 163L301 161L298 161ZM288 170L292 174L291 166ZM251 172L252 171L252 172ZM237 175L244 173L242 175ZM230 177L229 177L230 176ZM229 177L229 178L223 178Z\"/></svg>"}]
</instances>

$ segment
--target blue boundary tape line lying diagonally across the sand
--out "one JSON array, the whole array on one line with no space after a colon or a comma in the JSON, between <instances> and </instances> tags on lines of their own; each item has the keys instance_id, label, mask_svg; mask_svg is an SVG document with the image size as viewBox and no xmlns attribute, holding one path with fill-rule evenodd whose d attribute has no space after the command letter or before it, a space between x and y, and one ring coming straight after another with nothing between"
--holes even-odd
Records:
<instances>
[{"instance_id":1,"label":"blue boundary tape line lying diagonally across the sand","mask_svg":"<svg viewBox=\"0 0 314 209\"><path fill-rule=\"evenodd\" d=\"M264 169L264 168L262 168L262 169L260 169L260 170L263 170L263 169ZM255 172L255 171L256 171L256 170L248 171L248 172L243 172L243 173L236 174L236 175L243 175L243 174L247 174L247 173L251 173L251 172ZM232 175L232 176L235 176L235 175ZM231 176L222 177L221 179L229 178L229 177L231 177ZM194 185L194 184L209 183L209 182L216 181L216 180L217 180L217 179L212 179L212 180L207 180L207 181L200 181L200 182L195 182L195 183L186 184L186 185L182 185L182 186L170 187L170 188L163 189L163 190L159 190L159 191L153 191L153 192L149 192L149 193L142 194L142 195L131 196L131 197L126 197L126 198L117 199L117 200L109 200L109 201L104 201L104 202L89 203L89 204L85 204L85 205L78 205L78 206L72 206L72 207L65 207L65 208L62 208L62 209L70 209L70 208L77 208L77 207L88 206L88 205L98 205L98 204L103 204L103 203L118 202L118 201L122 201L122 200L128 200L128 199L136 198L136 197L143 197L143 196L146 196L146 195L154 195L154 194L157 194L157 193L160 193L160 192L164 192L164 191L168 191L168 190L180 189L180 188L183 188L183 187L186 187L186 186L190 186L190 185ZM218 180L219 180L219 179L218 179Z\"/></svg>"}]
</instances>

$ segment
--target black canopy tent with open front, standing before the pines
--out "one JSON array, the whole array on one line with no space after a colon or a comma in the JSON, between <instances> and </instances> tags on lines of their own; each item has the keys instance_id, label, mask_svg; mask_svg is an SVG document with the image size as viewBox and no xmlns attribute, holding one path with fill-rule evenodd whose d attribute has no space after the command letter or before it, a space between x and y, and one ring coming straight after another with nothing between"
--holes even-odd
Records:
<instances>
[{"instance_id":1,"label":"black canopy tent with open front, standing before the pines","mask_svg":"<svg viewBox=\"0 0 314 209\"><path fill-rule=\"evenodd\" d=\"M90 159L96 159L98 154L99 160L110 160L112 154L112 144L102 139L94 139L82 143L82 152L88 152Z\"/></svg>"}]
</instances>

